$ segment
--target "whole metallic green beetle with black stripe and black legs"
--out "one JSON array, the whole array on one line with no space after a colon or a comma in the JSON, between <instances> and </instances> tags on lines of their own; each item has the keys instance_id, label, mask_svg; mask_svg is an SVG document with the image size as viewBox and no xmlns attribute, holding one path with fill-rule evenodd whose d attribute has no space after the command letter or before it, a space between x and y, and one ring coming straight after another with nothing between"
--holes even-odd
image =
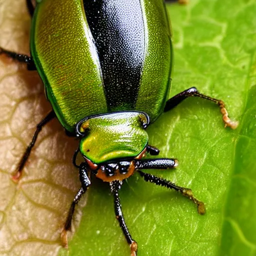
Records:
<instances>
[{"instance_id":1,"label":"whole metallic green beetle with black stripe and black legs","mask_svg":"<svg viewBox=\"0 0 256 256\"><path fill-rule=\"evenodd\" d=\"M137 243L125 224L118 191L135 171L145 181L181 192L203 214L203 202L189 188L142 171L177 166L176 159L142 159L146 153L159 154L148 145L145 129L189 96L218 104L225 126L237 125L229 119L223 101L195 87L167 99L173 53L162 1L37 0L34 9L27 0L27 6L32 16L31 56L3 48L0 53L39 72L53 110L38 123L12 178L20 178L39 131L52 118L57 117L69 135L80 139L73 164L79 170L81 188L61 232L63 244L67 245L75 204L91 183L89 172L109 182L115 215L131 255L136 255ZM78 153L82 163L77 163Z\"/></svg>"}]
</instances>

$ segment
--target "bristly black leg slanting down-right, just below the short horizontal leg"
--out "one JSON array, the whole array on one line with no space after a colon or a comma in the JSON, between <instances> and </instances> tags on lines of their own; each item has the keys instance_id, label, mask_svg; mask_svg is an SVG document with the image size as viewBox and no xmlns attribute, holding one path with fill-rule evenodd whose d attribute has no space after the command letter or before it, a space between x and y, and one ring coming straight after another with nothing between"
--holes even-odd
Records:
<instances>
[{"instance_id":1,"label":"bristly black leg slanting down-right, just below the short horizontal leg","mask_svg":"<svg viewBox=\"0 0 256 256\"><path fill-rule=\"evenodd\" d=\"M153 168L153 167L152 167ZM196 205L197 205L197 210L199 214L204 214L205 213L205 207L204 207L204 203L197 200L192 193L192 190L190 188L186 188L186 187L182 187L182 186L177 186L175 185L173 182L160 178L160 177L156 177L152 174L149 173L145 173L141 170L138 170L138 173L143 177L143 179L145 181L149 181L152 182L156 185L161 185L161 186L165 186L167 188L170 189L174 189L180 193L182 193L182 195L188 197L190 200L192 200Z\"/></svg>"}]
</instances>

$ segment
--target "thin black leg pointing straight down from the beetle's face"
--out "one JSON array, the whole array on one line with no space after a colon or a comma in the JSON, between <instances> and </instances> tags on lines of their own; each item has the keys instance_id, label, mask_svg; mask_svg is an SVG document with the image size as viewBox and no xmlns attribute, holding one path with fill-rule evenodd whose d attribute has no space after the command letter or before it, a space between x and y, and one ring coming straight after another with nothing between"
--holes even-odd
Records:
<instances>
[{"instance_id":1,"label":"thin black leg pointing straight down from the beetle's face","mask_svg":"<svg viewBox=\"0 0 256 256\"><path fill-rule=\"evenodd\" d=\"M123 215L122 215L122 209L121 209L121 203L120 203L120 198L119 198L119 189L121 188L122 181L120 180L114 180L110 182L110 189L111 193L114 196L114 212L115 212L115 217L119 222L119 225L122 229L122 232L125 236L126 241L128 242L130 246L130 252L131 256L136 256L137 252L137 243L131 238L131 235L129 233L129 230L125 224Z\"/></svg>"}]
</instances>

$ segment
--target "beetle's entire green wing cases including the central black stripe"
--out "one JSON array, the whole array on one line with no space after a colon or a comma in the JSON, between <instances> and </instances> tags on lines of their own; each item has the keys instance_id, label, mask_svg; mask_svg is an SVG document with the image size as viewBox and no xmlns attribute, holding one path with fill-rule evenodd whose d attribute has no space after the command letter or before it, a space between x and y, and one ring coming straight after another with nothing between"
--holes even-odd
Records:
<instances>
[{"instance_id":1,"label":"beetle's entire green wing cases including the central black stripe","mask_svg":"<svg viewBox=\"0 0 256 256\"><path fill-rule=\"evenodd\" d=\"M31 54L65 129L99 113L151 122L170 89L172 47L162 0L37 0Z\"/></svg>"}]
</instances>

